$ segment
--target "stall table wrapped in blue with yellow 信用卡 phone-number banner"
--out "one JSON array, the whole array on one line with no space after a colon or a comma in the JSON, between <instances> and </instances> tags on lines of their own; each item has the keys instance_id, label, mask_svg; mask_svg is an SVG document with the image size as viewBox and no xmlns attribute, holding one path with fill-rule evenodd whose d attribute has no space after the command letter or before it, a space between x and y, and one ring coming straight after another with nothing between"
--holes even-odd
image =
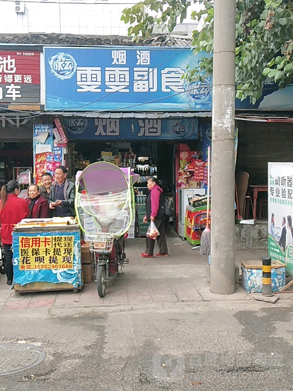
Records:
<instances>
[{"instance_id":1,"label":"stall table wrapped in blue with yellow \u4fe1\u7528\u5361 phone-number banner","mask_svg":"<svg viewBox=\"0 0 293 391\"><path fill-rule=\"evenodd\" d=\"M77 292L82 288L79 225L14 227L13 271L15 291Z\"/></svg>"}]
</instances>

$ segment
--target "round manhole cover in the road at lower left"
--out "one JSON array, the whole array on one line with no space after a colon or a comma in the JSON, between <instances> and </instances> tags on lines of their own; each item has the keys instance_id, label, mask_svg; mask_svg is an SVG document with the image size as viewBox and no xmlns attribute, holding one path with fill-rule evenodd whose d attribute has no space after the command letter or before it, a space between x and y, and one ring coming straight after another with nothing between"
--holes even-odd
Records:
<instances>
[{"instance_id":1,"label":"round manhole cover in the road at lower left","mask_svg":"<svg viewBox=\"0 0 293 391\"><path fill-rule=\"evenodd\" d=\"M0 343L0 376L30 369L45 359L38 346L19 343Z\"/></svg>"}]
</instances>

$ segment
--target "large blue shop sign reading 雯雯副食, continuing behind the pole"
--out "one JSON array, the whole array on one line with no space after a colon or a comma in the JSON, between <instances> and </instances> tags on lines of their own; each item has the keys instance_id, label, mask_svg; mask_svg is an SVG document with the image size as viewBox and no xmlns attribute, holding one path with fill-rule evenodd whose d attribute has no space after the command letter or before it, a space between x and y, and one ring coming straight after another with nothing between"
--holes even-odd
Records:
<instances>
[{"instance_id":1,"label":"large blue shop sign reading \u96ef\u96ef\u526f\u98df, continuing behind the pole","mask_svg":"<svg viewBox=\"0 0 293 391\"><path fill-rule=\"evenodd\" d=\"M45 47L47 110L211 111L212 78L188 83L186 66L205 53L189 48ZM264 86L255 105L237 109L292 109L293 87Z\"/></svg>"}]
</instances>

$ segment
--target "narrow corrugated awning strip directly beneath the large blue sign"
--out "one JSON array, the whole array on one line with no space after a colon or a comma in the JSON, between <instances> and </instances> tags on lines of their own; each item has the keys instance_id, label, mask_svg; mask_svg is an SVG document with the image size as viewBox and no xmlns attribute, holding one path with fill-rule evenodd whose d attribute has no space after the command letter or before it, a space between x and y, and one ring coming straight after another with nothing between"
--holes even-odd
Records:
<instances>
[{"instance_id":1,"label":"narrow corrugated awning strip directly beneath the large blue sign","mask_svg":"<svg viewBox=\"0 0 293 391\"><path fill-rule=\"evenodd\" d=\"M52 115L61 115L63 117L86 117L86 118L139 118L139 119L157 119L157 118L198 118L198 117L212 117L211 111L197 112L197 113L122 113L122 112L112 112L112 113L101 113L101 112L55 112L50 113Z\"/></svg>"}]
</instances>

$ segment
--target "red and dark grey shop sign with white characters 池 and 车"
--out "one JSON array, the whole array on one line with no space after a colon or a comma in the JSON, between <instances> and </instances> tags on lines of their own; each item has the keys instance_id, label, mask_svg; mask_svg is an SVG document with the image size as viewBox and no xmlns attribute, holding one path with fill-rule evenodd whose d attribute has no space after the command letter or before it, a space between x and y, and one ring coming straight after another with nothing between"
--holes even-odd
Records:
<instances>
[{"instance_id":1,"label":"red and dark grey shop sign with white characters \u6c60 and \u8f66","mask_svg":"<svg viewBox=\"0 0 293 391\"><path fill-rule=\"evenodd\" d=\"M39 52L0 50L0 103L40 103Z\"/></svg>"}]
</instances>

